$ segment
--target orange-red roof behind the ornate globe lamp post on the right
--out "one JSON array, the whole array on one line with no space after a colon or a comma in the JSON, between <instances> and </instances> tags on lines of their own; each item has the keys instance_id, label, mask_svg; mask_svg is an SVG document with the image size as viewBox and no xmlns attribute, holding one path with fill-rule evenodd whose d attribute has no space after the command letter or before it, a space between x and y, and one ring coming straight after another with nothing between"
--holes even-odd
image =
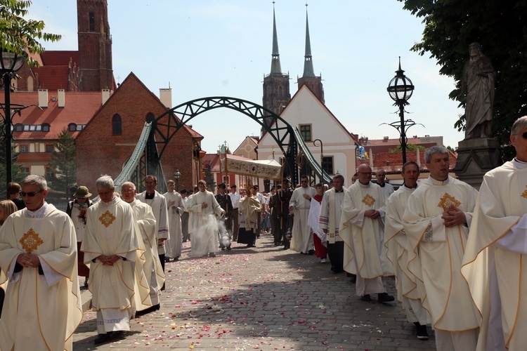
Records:
<instances>
[{"instance_id":1,"label":"orange-red roof behind the ornate globe lamp post on the right","mask_svg":"<svg viewBox=\"0 0 527 351\"><path fill-rule=\"evenodd\" d=\"M455 167L457 161L457 156L453 152L450 152L449 167L450 171ZM406 152L406 161L415 161L417 162L417 151L407 151ZM421 165L421 171L427 170L427 167L424 165L424 151L419 151L419 162ZM357 164L370 164L369 159L358 159ZM373 167L372 171L378 171L384 169L386 173L401 173L403 168L403 153L402 152L380 152L373 155Z\"/></svg>"}]
</instances>

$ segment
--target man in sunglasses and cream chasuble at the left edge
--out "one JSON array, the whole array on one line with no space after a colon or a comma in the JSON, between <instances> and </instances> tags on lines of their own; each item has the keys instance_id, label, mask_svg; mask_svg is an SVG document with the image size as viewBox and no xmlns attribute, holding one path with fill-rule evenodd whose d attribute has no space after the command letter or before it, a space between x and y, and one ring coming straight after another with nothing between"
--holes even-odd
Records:
<instances>
[{"instance_id":1,"label":"man in sunglasses and cream chasuble at the left edge","mask_svg":"<svg viewBox=\"0 0 527 351\"><path fill-rule=\"evenodd\" d=\"M72 334L82 321L75 227L65 212L46 203L44 178L27 176L21 184L26 208L0 230L1 276L9 281L0 349L72 350Z\"/></svg>"}]
</instances>

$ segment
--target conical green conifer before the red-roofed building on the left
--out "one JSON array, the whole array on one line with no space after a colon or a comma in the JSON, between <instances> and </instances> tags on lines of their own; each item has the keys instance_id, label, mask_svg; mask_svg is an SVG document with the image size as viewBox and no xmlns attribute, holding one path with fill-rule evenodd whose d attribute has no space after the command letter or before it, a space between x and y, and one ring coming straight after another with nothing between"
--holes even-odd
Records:
<instances>
[{"instance_id":1,"label":"conical green conifer before the red-roofed building on the left","mask_svg":"<svg viewBox=\"0 0 527 351\"><path fill-rule=\"evenodd\" d=\"M55 150L51 154L46 180L50 191L48 199L52 201L67 201L70 197L70 188L77 182L77 148L72 135L64 128L55 142Z\"/></svg>"}]
</instances>

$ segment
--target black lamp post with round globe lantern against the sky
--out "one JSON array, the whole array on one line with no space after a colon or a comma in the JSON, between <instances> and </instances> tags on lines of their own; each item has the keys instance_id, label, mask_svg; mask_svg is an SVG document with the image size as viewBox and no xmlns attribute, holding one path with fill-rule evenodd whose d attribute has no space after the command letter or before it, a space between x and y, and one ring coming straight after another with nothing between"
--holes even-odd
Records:
<instances>
[{"instance_id":1,"label":"black lamp post with round globe lantern against the sky","mask_svg":"<svg viewBox=\"0 0 527 351\"><path fill-rule=\"evenodd\" d=\"M391 79L386 90L390 94L390 98L395 101L393 105L399 107L399 117L401 117L399 125L397 125L398 122L393 122L389 125L396 128L401 135L399 141L401 142L401 150L403 150L403 164L405 164L407 141L406 131L408 128L415 125L411 119L405 121L405 105L408 105L408 100L412 97L414 86L412 81L410 81L410 78L406 77L403 69L401 69L401 56L399 56L399 69L396 71L396 77Z\"/></svg>"}]
</instances>

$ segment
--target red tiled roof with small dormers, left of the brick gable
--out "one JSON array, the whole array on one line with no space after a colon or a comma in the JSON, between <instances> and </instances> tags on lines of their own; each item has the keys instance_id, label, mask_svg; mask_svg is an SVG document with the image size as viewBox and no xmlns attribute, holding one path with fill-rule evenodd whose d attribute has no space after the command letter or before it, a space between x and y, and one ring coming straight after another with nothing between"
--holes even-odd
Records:
<instances>
[{"instance_id":1,"label":"red tiled roof with small dormers, left of the brick gable","mask_svg":"<svg viewBox=\"0 0 527 351\"><path fill-rule=\"evenodd\" d=\"M48 107L39 109L38 92L18 92L11 94L11 103L20 105L34 105L15 114L13 125L16 124L49 124L50 130L13 132L15 140L56 140L57 135L67 128L68 124L87 124L95 112L103 105L102 93L94 92L65 92L65 107L58 107L57 92L48 92ZM72 132L76 138L79 131Z\"/></svg>"}]
</instances>

